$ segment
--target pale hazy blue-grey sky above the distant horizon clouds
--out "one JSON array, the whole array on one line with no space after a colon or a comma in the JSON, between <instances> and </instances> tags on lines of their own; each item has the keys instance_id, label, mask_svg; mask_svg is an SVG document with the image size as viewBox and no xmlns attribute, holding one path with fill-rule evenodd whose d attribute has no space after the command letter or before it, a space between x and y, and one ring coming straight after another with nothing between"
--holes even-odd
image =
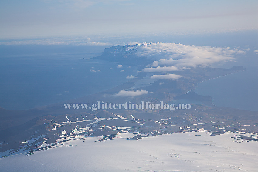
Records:
<instances>
[{"instance_id":1,"label":"pale hazy blue-grey sky above the distant horizon clouds","mask_svg":"<svg viewBox=\"0 0 258 172\"><path fill-rule=\"evenodd\" d=\"M257 0L1 0L0 39L258 28Z\"/></svg>"}]
</instances>

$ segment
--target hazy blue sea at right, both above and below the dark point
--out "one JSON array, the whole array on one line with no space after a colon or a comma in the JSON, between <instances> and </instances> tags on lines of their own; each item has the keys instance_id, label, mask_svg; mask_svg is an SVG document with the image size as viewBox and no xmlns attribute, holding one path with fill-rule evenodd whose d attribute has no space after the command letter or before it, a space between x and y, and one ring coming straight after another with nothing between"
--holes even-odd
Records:
<instances>
[{"instance_id":1,"label":"hazy blue sea at right, both above and below the dark point","mask_svg":"<svg viewBox=\"0 0 258 172\"><path fill-rule=\"evenodd\" d=\"M236 56L234 62L212 67L229 69L232 66L243 66L246 70L204 81L193 91L212 96L216 106L258 111L258 55L246 51Z\"/></svg>"}]
</instances>

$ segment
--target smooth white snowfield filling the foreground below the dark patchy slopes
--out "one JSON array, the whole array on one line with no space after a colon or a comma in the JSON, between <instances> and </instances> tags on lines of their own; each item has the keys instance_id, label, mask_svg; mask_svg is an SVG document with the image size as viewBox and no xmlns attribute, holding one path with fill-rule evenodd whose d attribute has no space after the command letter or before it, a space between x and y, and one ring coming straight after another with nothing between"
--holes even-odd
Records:
<instances>
[{"instance_id":1,"label":"smooth white snowfield filling the foreground below the dark patchy slopes","mask_svg":"<svg viewBox=\"0 0 258 172\"><path fill-rule=\"evenodd\" d=\"M86 137L29 156L0 158L0 171L256 171L257 142L231 138L235 134L198 131L129 140L137 134L124 133L101 142Z\"/></svg>"}]
</instances>

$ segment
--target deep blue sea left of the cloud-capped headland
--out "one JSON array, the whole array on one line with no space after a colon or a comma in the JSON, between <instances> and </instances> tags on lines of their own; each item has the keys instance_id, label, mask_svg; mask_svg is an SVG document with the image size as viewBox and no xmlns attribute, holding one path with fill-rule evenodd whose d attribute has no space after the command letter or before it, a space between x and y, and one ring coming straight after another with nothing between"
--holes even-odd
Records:
<instances>
[{"instance_id":1,"label":"deep blue sea left of the cloud-capped headland","mask_svg":"<svg viewBox=\"0 0 258 172\"><path fill-rule=\"evenodd\" d=\"M113 88L127 82L127 75L137 75L134 67L89 59L107 47L0 46L0 106L25 110L58 103Z\"/></svg>"}]
</instances>

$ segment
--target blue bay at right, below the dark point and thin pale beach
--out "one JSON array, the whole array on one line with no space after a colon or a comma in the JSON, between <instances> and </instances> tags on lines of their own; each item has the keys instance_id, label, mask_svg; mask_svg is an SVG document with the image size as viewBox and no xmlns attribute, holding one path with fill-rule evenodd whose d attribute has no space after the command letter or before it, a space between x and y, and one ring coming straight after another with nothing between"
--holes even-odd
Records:
<instances>
[{"instance_id":1,"label":"blue bay at right, below the dark point and thin pale beach","mask_svg":"<svg viewBox=\"0 0 258 172\"><path fill-rule=\"evenodd\" d=\"M216 106L233 107L243 110L258 111L257 69L233 73L198 84L193 91L199 95L212 96Z\"/></svg>"}]
</instances>

